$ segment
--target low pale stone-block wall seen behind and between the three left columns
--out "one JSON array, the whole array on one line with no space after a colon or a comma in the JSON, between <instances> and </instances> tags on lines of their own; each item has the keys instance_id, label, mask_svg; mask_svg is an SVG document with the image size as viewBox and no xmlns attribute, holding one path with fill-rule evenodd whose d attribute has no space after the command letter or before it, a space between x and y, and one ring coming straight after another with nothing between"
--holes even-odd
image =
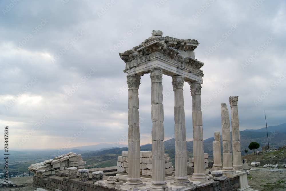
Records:
<instances>
[{"instance_id":1,"label":"low pale stone-block wall seen behind and between the three left columns","mask_svg":"<svg viewBox=\"0 0 286 191\"><path fill-rule=\"evenodd\" d=\"M128 173L128 151L122 151L122 156L117 158L117 171ZM165 174L172 174L172 162L169 162L169 154L164 154ZM152 151L140 151L140 175L152 176Z\"/></svg>"}]
</instances>

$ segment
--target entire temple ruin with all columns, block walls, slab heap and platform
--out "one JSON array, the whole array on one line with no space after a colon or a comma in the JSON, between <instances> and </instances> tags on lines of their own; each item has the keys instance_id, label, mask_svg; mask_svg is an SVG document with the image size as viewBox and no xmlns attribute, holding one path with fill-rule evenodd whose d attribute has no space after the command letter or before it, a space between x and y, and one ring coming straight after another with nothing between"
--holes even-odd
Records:
<instances>
[{"instance_id":1,"label":"entire temple ruin with all columns, block walls, slab heap and platform","mask_svg":"<svg viewBox=\"0 0 286 191\"><path fill-rule=\"evenodd\" d=\"M201 89L204 63L195 59L194 49L199 45L194 39L163 37L162 31L124 53L120 58L126 63L128 84L128 151L118 157L117 174L103 179L103 171L80 169L84 164L81 156L68 153L54 160L44 161L30 167L35 170L34 184L66 190L105 191L188 191L188 190L252 190L247 184L247 171L242 168L239 135L238 96L229 97L231 106L232 142L229 111L221 104L223 164L221 162L220 132L215 132L214 166L208 169L208 154L204 153L201 112ZM140 152L139 95L141 76L150 74L152 152ZM170 157L164 149L163 75L172 77L174 91L175 173ZM187 162L186 124L184 112L184 82L190 85L192 97L193 158ZM233 160L231 145L233 146ZM77 158L78 157L78 158ZM80 157L80 158L79 158ZM40 166L39 166L40 165ZM54 166L53 166L54 165ZM78 166L76 166L78 165ZM46 168L55 171L48 172ZM65 168L66 167L66 168ZM43 168L43 169L42 169ZM192 175L188 175L192 168ZM38 172L37 172L38 171ZM211 174L209 174L209 172ZM90 172L92 173L92 177ZM78 173L78 176L77 176ZM55 177L64 176L63 178ZM77 179L79 178L79 179Z\"/></svg>"}]
</instances>

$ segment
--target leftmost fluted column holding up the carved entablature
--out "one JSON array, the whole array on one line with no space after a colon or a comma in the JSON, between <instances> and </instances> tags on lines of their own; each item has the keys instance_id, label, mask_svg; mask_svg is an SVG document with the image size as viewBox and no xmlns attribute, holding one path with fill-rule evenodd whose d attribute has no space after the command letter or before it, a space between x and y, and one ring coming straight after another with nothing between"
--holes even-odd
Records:
<instances>
[{"instance_id":1,"label":"leftmost fluted column holding up the carved entablature","mask_svg":"<svg viewBox=\"0 0 286 191\"><path fill-rule=\"evenodd\" d=\"M128 179L126 184L142 184L140 177L139 98L140 76L127 76L128 84Z\"/></svg>"}]
</instances>

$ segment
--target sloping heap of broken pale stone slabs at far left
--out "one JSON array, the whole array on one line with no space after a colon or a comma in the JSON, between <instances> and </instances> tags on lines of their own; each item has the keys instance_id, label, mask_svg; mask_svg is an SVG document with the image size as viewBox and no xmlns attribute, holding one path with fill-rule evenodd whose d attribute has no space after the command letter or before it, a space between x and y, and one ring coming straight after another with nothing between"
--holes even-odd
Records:
<instances>
[{"instance_id":1,"label":"sloping heap of broken pale stone slabs at far left","mask_svg":"<svg viewBox=\"0 0 286 191\"><path fill-rule=\"evenodd\" d=\"M82 159L81 154L69 152L53 159L45 160L36 164L31 164L28 170L34 172L34 176L43 178L46 175L54 175L56 172L66 170L67 168L76 167L84 169L86 162Z\"/></svg>"}]
</instances>

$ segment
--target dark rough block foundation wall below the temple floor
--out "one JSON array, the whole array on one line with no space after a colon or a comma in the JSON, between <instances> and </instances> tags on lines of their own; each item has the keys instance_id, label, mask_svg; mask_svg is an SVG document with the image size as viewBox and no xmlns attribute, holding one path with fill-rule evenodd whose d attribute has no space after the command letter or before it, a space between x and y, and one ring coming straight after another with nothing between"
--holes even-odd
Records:
<instances>
[{"instance_id":1,"label":"dark rough block foundation wall below the temple floor","mask_svg":"<svg viewBox=\"0 0 286 191\"><path fill-rule=\"evenodd\" d=\"M51 190L59 189L62 191L116 191L102 186L96 186L91 181L80 182L78 178L69 179L59 176L49 176L48 178L33 177L33 186L42 186ZM239 188L239 176L235 178L227 178L224 181L215 181L208 186L195 188L194 191L236 191Z\"/></svg>"}]
</instances>

